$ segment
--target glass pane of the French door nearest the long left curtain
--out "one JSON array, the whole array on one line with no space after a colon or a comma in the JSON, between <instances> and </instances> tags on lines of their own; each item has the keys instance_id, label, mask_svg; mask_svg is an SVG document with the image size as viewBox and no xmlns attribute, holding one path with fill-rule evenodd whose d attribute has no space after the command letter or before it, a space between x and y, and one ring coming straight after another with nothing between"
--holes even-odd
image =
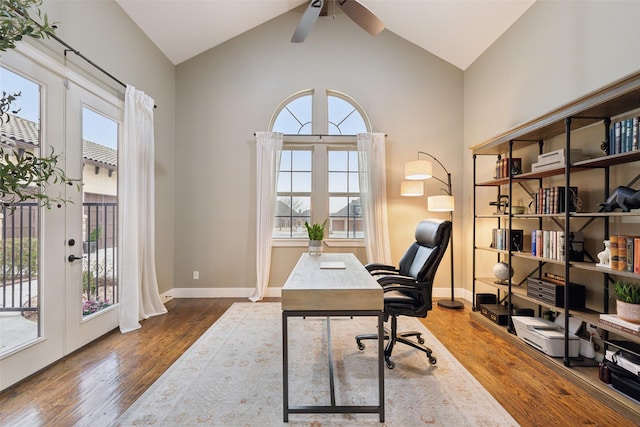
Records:
<instances>
[{"instance_id":1,"label":"glass pane of the French door nearest the long left curtain","mask_svg":"<svg viewBox=\"0 0 640 427\"><path fill-rule=\"evenodd\" d=\"M82 314L118 302L118 123L82 109Z\"/></svg>"}]
</instances>

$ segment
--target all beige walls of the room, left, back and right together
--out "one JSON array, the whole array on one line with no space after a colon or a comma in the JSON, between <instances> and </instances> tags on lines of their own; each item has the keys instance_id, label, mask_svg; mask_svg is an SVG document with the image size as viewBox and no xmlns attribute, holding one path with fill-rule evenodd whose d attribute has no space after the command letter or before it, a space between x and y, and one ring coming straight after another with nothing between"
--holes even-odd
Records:
<instances>
[{"instance_id":1,"label":"all beige walls of the room, left, back and right together","mask_svg":"<svg viewBox=\"0 0 640 427\"><path fill-rule=\"evenodd\" d=\"M388 31L371 37L342 15L319 19L307 42L294 45L289 39L300 11L290 12L174 67L112 0L45 0L44 9L64 40L158 105L162 292L254 285L253 133L267 128L280 101L307 88L351 95L374 130L388 134L394 261L415 223L428 215L424 198L398 195L404 162L422 150L449 168L460 230L456 283L470 289L473 191L466 147L640 69L640 56L632 54L639 2L538 1L464 73ZM67 63L90 69L73 55ZM438 189L427 185L427 192ZM302 250L274 252L273 286ZM200 271L199 281L192 280L193 270ZM441 271L446 287L448 268Z\"/></svg>"}]
</instances>

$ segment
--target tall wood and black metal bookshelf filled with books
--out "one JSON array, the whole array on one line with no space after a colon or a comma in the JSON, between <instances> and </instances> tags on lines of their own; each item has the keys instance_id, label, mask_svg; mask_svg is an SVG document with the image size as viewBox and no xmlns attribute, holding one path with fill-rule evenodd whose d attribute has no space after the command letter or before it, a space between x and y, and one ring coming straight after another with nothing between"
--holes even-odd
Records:
<instances>
[{"instance_id":1,"label":"tall wood and black metal bookshelf filled with books","mask_svg":"<svg viewBox=\"0 0 640 427\"><path fill-rule=\"evenodd\" d=\"M638 334L622 330L619 325L600 322L600 314L615 314L615 304L611 303L609 292L613 281L626 279L640 283L640 274L617 271L600 267L597 251L603 249L602 242L610 235L636 235L640 237L640 209L632 209L630 212L603 212L594 201L604 202L617 186L630 186L640 188L640 149L637 142L634 145L632 134L628 142L618 144L615 150L628 150L625 152L612 151L615 147L617 123L634 123L633 118L640 116L640 73L630 75L607 87L597 90L584 97L570 102L560 108L517 126L498 135L488 141L471 147L473 155L474 178L474 206L473 206L473 311L477 311L476 295L480 292L495 293L498 302L512 308L534 308L537 316L552 311L557 316L564 318L564 324L569 324L570 318L584 322L586 329L597 328L603 338L603 347L606 348L609 336L616 339L628 340L640 343ZM635 123L638 123L635 120ZM624 129L624 127L623 127ZM577 135L583 132L587 135L597 134L580 139ZM632 130L629 130L632 132ZM636 138L640 139L640 130L636 127ZM591 139L589 139L591 138ZM636 139L636 141L637 141ZM629 142L630 141L630 142ZM579 155L576 149L587 146L592 154L585 158ZM594 147L598 149L594 150ZM603 148L600 151L600 147ZM620 148L622 147L622 148ZM607 150L608 152L605 152ZM538 163L540 159L556 155L559 152L561 165L546 167ZM595 155L593 153L596 153ZM571 160L574 154L575 161ZM566 156L566 158L565 158ZM509 159L517 161L520 170L510 172ZM538 160L538 162L536 162ZM568 160L568 161L565 161ZM495 167L489 166L495 161ZM482 165L482 170L478 165ZM507 165L505 167L505 165ZM534 171L531 170L534 165ZM505 173L506 171L506 173ZM631 171L631 173L630 173ZM493 176L486 178L487 174ZM629 178L629 176L631 176ZM480 177L480 178L479 178ZM491 212L487 205L493 200L500 200L506 196L510 205L517 204L520 200L536 200L541 188L578 187L579 195L587 196L590 203L578 209L541 210L526 206L525 212L513 214L512 208L505 208L504 212ZM564 192L561 205L569 207L575 201L570 199L570 192ZM551 194L554 194L551 192ZM539 196L538 196L539 197ZM535 202L532 202L535 206ZM543 213L544 212L544 213ZM626 227L626 228L625 228ZM494 246L492 233L494 229L524 230L524 239L521 250L514 250L510 245ZM566 253L564 257L541 257L531 253L531 230L553 230L561 232L565 236L567 247L575 249L570 238L578 233L584 237L583 258L577 258L576 254ZM620 231L623 230L623 231ZM627 231L624 231L627 230ZM508 235L508 234L507 234ZM598 246L600 245L600 246ZM588 248L587 248L588 247ZM598 248L594 251L594 248ZM574 251L575 252L575 251ZM579 253L578 255L582 255ZM509 268L513 268L516 274L505 284L496 283L488 268L488 259L495 262L505 262ZM548 302L533 298L527 293L527 278L542 279L547 271L554 271L562 276L566 283L582 283L586 280L586 305L580 309L556 307ZM586 279L585 279L586 278ZM572 286L563 286L564 301L571 301ZM575 292L575 290L574 290ZM573 295L575 296L575 295ZM474 313L477 315L477 313ZM509 313L511 316L511 312ZM506 334L517 338L512 322L508 326L493 325L493 327L506 330ZM489 322L491 324L491 322ZM502 331L504 332L504 331ZM568 354L569 332L565 332L565 357L555 359L553 366L557 369L575 373L576 370L584 371L593 369L586 375L579 375L585 382L585 386L602 388L597 375L597 358L591 361L592 367L585 367L584 360L577 360L566 356ZM604 353L601 348L600 353ZM538 350L533 350L538 351ZM549 357L549 356L545 356ZM584 359L584 358L582 358ZM588 365L589 363L587 363ZM635 411L640 411L632 399L618 392L607 393L619 400L624 406L629 406Z\"/></svg>"}]
</instances>

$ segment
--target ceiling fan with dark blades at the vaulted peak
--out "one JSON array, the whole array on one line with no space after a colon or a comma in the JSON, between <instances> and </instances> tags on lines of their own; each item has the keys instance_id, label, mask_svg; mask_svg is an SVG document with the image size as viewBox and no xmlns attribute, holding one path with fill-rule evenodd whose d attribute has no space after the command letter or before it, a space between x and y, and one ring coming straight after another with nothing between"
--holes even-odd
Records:
<instances>
[{"instance_id":1,"label":"ceiling fan with dark blades at the vaulted peak","mask_svg":"<svg viewBox=\"0 0 640 427\"><path fill-rule=\"evenodd\" d=\"M382 21L358 0L311 0L293 33L293 37L291 37L292 43L302 43L307 38L318 16L320 16L323 6L329 2L337 4L349 18L369 34L375 36L384 30ZM326 9L324 10L326 13Z\"/></svg>"}]
</instances>

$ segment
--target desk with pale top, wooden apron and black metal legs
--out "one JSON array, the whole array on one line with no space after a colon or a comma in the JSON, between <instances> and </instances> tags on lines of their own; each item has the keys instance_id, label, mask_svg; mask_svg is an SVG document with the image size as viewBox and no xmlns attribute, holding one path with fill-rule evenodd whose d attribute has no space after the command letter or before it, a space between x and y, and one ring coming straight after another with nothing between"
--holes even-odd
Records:
<instances>
[{"instance_id":1,"label":"desk with pale top, wooden apron and black metal legs","mask_svg":"<svg viewBox=\"0 0 640 427\"><path fill-rule=\"evenodd\" d=\"M341 268L344 264L344 268ZM289 414L378 413L384 422L384 292L353 254L303 254L282 287L282 363L284 422ZM326 316L329 333L329 383L331 405L289 406L288 318ZM331 356L332 316L376 316L378 318L377 406L338 406L333 387ZM354 344L355 345L355 344Z\"/></svg>"}]
</instances>

